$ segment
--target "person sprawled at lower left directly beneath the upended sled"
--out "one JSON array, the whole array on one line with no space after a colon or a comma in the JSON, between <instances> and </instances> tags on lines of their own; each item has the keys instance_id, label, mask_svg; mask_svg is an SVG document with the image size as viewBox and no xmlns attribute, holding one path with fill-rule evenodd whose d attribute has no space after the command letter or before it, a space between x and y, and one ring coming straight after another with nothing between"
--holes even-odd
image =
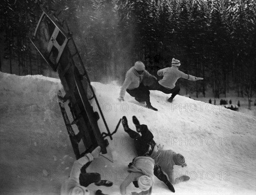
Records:
<instances>
[{"instance_id":1,"label":"person sprawled at lower left directly beneath the upended sled","mask_svg":"<svg viewBox=\"0 0 256 195\"><path fill-rule=\"evenodd\" d=\"M70 177L61 186L61 195L90 195L92 193L87 189L87 186L92 183L96 186L110 187L113 185L113 182L111 181L101 180L99 173L87 173L85 171L87 168L86 164L89 164L94 158L98 158L99 152L100 146L96 147L93 152L87 153L84 157L79 158L74 162ZM104 195L99 189L95 194Z\"/></svg>"}]
</instances>

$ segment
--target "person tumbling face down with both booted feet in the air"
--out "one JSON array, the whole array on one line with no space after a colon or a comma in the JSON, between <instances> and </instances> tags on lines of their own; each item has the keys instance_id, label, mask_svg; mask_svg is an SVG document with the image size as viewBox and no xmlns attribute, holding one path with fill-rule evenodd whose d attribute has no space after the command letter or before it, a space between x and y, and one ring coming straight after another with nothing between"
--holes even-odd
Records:
<instances>
[{"instance_id":1,"label":"person tumbling face down with both booted feet in the air","mask_svg":"<svg viewBox=\"0 0 256 195\"><path fill-rule=\"evenodd\" d=\"M177 154L176 152L169 150L163 150L163 147L157 146L154 142L153 134L148 130L148 126L140 125L139 120L133 116L133 122L136 126L137 132L131 130L128 126L128 121L125 116L122 117L122 125L124 127L125 132L134 139L134 145L137 151L137 155L139 156L150 156L153 158L157 164L161 167L163 172L165 172L169 181L172 184L177 184L181 181L189 180L189 177L186 175L182 175L179 178L174 179L173 175L173 166L187 166L185 163L185 158L181 154ZM140 132L141 135L138 133Z\"/></svg>"}]
</instances>

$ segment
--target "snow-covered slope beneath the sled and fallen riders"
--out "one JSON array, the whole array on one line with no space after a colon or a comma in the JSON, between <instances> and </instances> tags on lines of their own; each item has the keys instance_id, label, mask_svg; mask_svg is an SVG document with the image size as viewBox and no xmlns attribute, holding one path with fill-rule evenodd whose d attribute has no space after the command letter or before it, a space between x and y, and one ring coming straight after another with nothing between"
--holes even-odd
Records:
<instances>
[{"instance_id":1,"label":"snow-covered slope beneath the sled and fallen riders","mask_svg":"<svg viewBox=\"0 0 256 195\"><path fill-rule=\"evenodd\" d=\"M60 80L0 74L0 194L59 194L75 161L57 103L57 91L63 91ZM124 115L134 129L131 118L136 115L148 125L157 143L185 157L188 166L175 166L175 175L191 179L176 184L175 194L256 194L255 116L179 95L168 103L168 95L151 91L152 105L159 110L155 112L128 94L120 103L120 86L115 83L92 85L111 131ZM96 104L92 105L97 111ZM99 127L105 131L102 120ZM107 155L114 163L100 157L88 171L99 172L114 185L91 184L88 188L120 194L127 165L135 157L133 140L122 125L113 135ZM172 194L155 180L153 194ZM127 192L139 190L131 184Z\"/></svg>"}]
</instances>

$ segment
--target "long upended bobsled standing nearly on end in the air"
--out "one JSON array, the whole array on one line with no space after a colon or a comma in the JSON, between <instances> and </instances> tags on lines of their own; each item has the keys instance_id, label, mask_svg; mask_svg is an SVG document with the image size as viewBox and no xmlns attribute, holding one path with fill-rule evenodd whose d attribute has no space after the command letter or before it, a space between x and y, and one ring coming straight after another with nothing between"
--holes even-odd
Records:
<instances>
[{"instance_id":1,"label":"long upended bobsled standing nearly on end in the air","mask_svg":"<svg viewBox=\"0 0 256 195\"><path fill-rule=\"evenodd\" d=\"M63 12L61 11L63 21L60 22L55 14L49 14L43 7L41 7L41 9L43 13L36 26L34 37L33 39L29 39L47 64L52 68L52 70L55 72L58 71L61 83L64 86L64 91L66 93L64 97L62 97L61 93L60 95L58 93L58 98L62 99L62 103L59 103L59 105L61 107L61 112L76 158L81 158L84 153L91 152L97 146L100 146L102 154L105 154L107 153L106 147L109 143L108 140L104 140L104 138L109 136L109 138L113 140L112 135L116 133L121 119L119 120L116 129L111 133L108 129L108 125L96 98L95 92L93 91L93 87L90 84L90 79L87 75L86 69L81 60L81 56L79 55ZM48 43L46 43L47 52L41 52L40 48L38 48L38 46L34 43L34 40L39 32L41 23L46 23L46 21L48 22L47 30L50 38ZM51 26L52 24L54 27ZM64 29L64 25L67 31ZM52 33L50 33L50 31L52 31ZM73 50L75 50L74 54L72 54L68 46L68 43L70 42L73 44ZM54 56L55 60L50 59L51 55ZM75 62L75 56L78 57L78 62ZM90 92L90 97L88 97L88 92ZM70 112L73 116L72 123L70 123L69 119L67 118L67 113L63 106L67 100L69 100L68 106L70 107ZM101 133L99 130L99 126L97 124L99 115L98 112L93 112L93 107L90 105L90 101L92 100L95 100L95 103L98 106L100 116L107 132ZM79 136L78 134L70 134L70 132L74 132L71 126L72 124L76 124L78 126ZM76 140L76 138L79 139ZM81 139L83 140L85 151L80 154L76 141L79 142Z\"/></svg>"}]
</instances>

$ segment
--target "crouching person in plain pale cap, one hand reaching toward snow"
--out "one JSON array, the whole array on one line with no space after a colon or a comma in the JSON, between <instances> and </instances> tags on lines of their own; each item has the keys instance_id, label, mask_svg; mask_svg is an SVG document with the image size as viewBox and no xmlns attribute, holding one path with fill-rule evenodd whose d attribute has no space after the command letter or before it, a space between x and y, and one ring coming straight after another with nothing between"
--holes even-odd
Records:
<instances>
[{"instance_id":1,"label":"crouching person in plain pale cap, one hand reaching toward snow","mask_svg":"<svg viewBox=\"0 0 256 195\"><path fill-rule=\"evenodd\" d=\"M125 81L121 87L118 99L119 101L124 101L126 91L132 97L135 97L135 100L138 102L146 102L147 108L157 111L157 109L151 105L149 90L141 83L143 77L150 77L153 80L157 80L157 77L150 75L145 70L145 65L141 61L137 61L134 66L126 72Z\"/></svg>"}]
</instances>

